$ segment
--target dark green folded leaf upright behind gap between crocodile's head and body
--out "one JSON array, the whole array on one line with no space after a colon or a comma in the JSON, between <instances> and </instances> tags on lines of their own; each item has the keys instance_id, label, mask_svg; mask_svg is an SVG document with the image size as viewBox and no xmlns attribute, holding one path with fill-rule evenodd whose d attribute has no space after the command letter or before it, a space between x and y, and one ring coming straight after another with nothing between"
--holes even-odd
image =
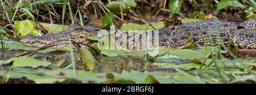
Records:
<instances>
[{"instance_id":1,"label":"dark green folded leaf upright behind gap between crocodile's head and body","mask_svg":"<svg viewBox=\"0 0 256 95\"><path fill-rule=\"evenodd\" d=\"M101 23L101 27L104 29L109 29L112 24L112 19L114 18L113 12L108 12L104 15Z\"/></svg>"}]
</instances>

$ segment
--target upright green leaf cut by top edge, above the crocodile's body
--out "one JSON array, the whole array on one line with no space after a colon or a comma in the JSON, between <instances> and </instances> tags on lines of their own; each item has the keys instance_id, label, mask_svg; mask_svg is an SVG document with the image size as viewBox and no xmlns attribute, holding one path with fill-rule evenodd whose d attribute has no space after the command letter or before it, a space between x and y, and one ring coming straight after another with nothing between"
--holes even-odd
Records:
<instances>
[{"instance_id":1,"label":"upright green leaf cut by top edge, above the crocodile's body","mask_svg":"<svg viewBox=\"0 0 256 95\"><path fill-rule=\"evenodd\" d=\"M171 11L171 14L175 14L180 12L182 0L171 0L168 3L169 10Z\"/></svg>"}]
</instances>

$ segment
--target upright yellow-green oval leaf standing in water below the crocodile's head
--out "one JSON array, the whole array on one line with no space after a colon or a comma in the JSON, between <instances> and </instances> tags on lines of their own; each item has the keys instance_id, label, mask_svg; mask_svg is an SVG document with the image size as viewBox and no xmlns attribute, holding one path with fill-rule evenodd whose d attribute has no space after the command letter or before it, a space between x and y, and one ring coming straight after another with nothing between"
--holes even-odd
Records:
<instances>
[{"instance_id":1,"label":"upright yellow-green oval leaf standing in water below the crocodile's head","mask_svg":"<svg viewBox=\"0 0 256 95\"><path fill-rule=\"evenodd\" d=\"M79 48L79 53L81 55L82 63L84 63L89 70L94 70L96 67L96 59L94 59L92 53L84 48Z\"/></svg>"}]
</instances>

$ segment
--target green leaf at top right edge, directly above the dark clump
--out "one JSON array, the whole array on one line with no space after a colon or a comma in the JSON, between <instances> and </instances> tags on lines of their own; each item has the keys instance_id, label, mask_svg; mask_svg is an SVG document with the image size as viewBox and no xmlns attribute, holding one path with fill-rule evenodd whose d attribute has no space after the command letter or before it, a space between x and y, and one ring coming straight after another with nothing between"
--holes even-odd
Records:
<instances>
[{"instance_id":1,"label":"green leaf at top right edge, directly above the dark clump","mask_svg":"<svg viewBox=\"0 0 256 95\"><path fill-rule=\"evenodd\" d=\"M242 4L240 2L234 1L234 0L221 0L217 4L217 11L226 6L241 7Z\"/></svg>"}]
</instances>

